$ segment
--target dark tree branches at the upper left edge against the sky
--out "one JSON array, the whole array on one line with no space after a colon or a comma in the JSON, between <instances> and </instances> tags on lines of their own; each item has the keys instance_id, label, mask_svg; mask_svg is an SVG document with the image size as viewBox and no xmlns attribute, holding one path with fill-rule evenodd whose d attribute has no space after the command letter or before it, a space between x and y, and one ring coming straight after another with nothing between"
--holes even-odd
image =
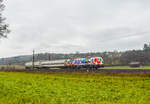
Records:
<instances>
[{"instance_id":1,"label":"dark tree branches at the upper left edge against the sky","mask_svg":"<svg viewBox=\"0 0 150 104\"><path fill-rule=\"evenodd\" d=\"M8 29L8 24L4 22L6 18L2 16L2 12L5 8L5 5L2 2L3 0L0 0L0 38L7 38L7 34L10 30Z\"/></svg>"}]
</instances>

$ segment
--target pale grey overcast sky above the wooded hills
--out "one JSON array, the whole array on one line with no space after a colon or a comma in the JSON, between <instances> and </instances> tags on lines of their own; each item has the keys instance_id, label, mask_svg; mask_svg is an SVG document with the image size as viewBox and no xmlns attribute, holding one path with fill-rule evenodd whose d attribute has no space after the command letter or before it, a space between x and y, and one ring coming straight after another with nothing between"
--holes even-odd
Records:
<instances>
[{"instance_id":1,"label":"pale grey overcast sky above the wooded hills","mask_svg":"<svg viewBox=\"0 0 150 104\"><path fill-rule=\"evenodd\" d=\"M10 25L0 57L36 52L142 49L150 42L150 0L6 0Z\"/></svg>"}]
</instances>

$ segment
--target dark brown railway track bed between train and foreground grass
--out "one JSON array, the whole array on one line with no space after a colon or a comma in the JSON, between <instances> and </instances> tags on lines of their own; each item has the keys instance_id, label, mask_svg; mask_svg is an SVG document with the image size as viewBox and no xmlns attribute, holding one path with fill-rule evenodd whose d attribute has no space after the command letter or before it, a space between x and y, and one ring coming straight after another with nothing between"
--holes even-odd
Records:
<instances>
[{"instance_id":1,"label":"dark brown railway track bed between train and foreground grass","mask_svg":"<svg viewBox=\"0 0 150 104\"><path fill-rule=\"evenodd\" d=\"M96 72L96 73L150 73L150 69L34 69L34 70L0 70L5 72Z\"/></svg>"}]
</instances>

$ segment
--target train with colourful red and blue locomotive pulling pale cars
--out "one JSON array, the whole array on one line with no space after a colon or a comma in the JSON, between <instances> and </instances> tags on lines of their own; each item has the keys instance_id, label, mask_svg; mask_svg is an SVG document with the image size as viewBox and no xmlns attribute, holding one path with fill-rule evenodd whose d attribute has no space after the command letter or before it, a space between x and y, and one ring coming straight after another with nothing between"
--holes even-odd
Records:
<instances>
[{"instance_id":1,"label":"train with colourful red and blue locomotive pulling pale cars","mask_svg":"<svg viewBox=\"0 0 150 104\"><path fill-rule=\"evenodd\" d=\"M33 62L28 62L25 64L25 66L26 69L31 69L33 68ZM84 58L71 57L69 59L34 62L35 69L41 69L41 68L98 69L100 67L104 67L104 60L102 57L84 57Z\"/></svg>"}]
</instances>

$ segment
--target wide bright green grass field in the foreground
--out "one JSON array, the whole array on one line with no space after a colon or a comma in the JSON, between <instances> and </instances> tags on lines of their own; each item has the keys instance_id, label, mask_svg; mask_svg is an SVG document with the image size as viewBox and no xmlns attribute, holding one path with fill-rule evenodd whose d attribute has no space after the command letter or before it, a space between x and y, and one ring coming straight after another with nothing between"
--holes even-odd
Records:
<instances>
[{"instance_id":1,"label":"wide bright green grass field in the foreground","mask_svg":"<svg viewBox=\"0 0 150 104\"><path fill-rule=\"evenodd\" d=\"M0 72L0 103L150 104L148 76Z\"/></svg>"}]
</instances>

